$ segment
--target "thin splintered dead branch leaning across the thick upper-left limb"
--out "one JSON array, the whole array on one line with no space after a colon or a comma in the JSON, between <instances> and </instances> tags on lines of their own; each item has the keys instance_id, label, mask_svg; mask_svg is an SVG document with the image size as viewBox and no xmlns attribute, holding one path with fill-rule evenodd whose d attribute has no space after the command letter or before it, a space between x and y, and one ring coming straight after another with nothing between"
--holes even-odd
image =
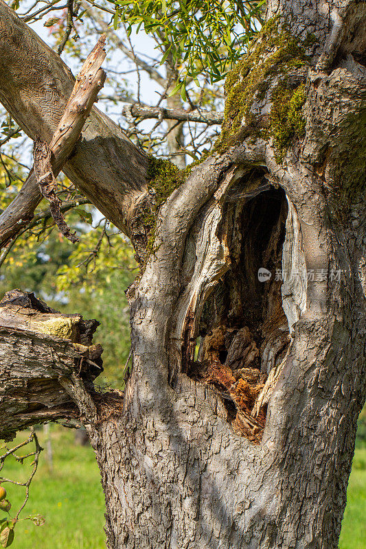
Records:
<instances>
[{"instance_id":1,"label":"thin splintered dead branch leaning across the thick upper-left limb","mask_svg":"<svg viewBox=\"0 0 366 549\"><path fill-rule=\"evenodd\" d=\"M60 213L54 176L58 175L73 151L98 92L104 85L106 74L100 68L106 56L104 43L105 35L102 35L84 62L49 146L36 137L34 169L19 194L0 215L1 247L8 244L32 220L42 195L49 200L52 217L60 231L71 242L76 242L76 237L71 235Z\"/></svg>"}]
</instances>

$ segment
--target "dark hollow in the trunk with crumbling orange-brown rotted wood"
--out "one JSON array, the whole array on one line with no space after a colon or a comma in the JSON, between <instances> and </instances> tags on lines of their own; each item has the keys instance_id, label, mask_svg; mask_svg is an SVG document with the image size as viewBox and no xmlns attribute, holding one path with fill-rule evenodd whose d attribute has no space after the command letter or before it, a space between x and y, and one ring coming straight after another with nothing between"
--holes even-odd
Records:
<instances>
[{"instance_id":1,"label":"dark hollow in the trunk with crumbling orange-brown rotted wood","mask_svg":"<svg viewBox=\"0 0 366 549\"><path fill-rule=\"evenodd\" d=\"M275 276L282 269L286 196L271 189L249 202L228 201L224 215L232 228L226 235L230 268L203 306L198 356L191 355L186 373L220 395L238 434L259 442L266 406L257 417L251 412L290 342L282 281ZM271 279L260 281L260 268L270 271Z\"/></svg>"}]
</instances>

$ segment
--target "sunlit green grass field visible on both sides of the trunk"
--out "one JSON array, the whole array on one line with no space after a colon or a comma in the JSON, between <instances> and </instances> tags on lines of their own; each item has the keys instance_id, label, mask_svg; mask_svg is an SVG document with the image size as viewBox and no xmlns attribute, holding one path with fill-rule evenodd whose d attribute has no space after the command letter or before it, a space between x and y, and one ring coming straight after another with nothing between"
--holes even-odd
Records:
<instances>
[{"instance_id":1,"label":"sunlit green grass field visible on both sides of the trunk","mask_svg":"<svg viewBox=\"0 0 366 549\"><path fill-rule=\"evenodd\" d=\"M44 443L43 432L38 435ZM46 522L19 522L12 548L105 549L104 497L93 450L75 445L71 430L52 428L51 436L54 470L49 471L43 452L23 514L41 513ZM5 464L2 476L22 480L29 474L29 460L23 467L9 458ZM23 489L10 484L6 489L16 510ZM366 448L356 449L339 548L366 549Z\"/></svg>"}]
</instances>

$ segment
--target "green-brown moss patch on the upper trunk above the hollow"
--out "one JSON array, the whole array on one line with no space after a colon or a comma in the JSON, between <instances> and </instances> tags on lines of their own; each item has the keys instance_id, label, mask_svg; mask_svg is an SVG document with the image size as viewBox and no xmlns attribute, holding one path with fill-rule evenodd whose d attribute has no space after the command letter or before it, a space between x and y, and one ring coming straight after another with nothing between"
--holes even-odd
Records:
<instances>
[{"instance_id":1,"label":"green-brown moss patch on the upper trunk above the hollow","mask_svg":"<svg viewBox=\"0 0 366 549\"><path fill-rule=\"evenodd\" d=\"M261 135L258 120L251 113L253 102L264 99L274 76L284 76L290 69L309 65L306 51L314 42L311 34L303 41L292 36L290 25L286 22L280 25L278 16L262 27L249 54L227 76L225 121L216 141L217 150L223 152L240 142L246 137L243 131L247 135ZM273 135L271 129L262 137Z\"/></svg>"}]
</instances>

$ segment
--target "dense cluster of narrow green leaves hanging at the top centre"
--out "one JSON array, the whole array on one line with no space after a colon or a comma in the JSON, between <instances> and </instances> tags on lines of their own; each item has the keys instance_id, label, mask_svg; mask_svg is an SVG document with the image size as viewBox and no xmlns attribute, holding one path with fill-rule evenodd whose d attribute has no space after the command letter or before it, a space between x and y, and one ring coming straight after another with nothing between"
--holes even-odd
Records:
<instances>
[{"instance_id":1,"label":"dense cluster of narrow green leaves hanging at the top centre","mask_svg":"<svg viewBox=\"0 0 366 549\"><path fill-rule=\"evenodd\" d=\"M182 67L181 80L202 74L211 83L223 80L225 66L231 67L242 56L262 25L264 13L264 0L245 2L241 13L233 0L112 1L126 6L121 17L128 34L132 27L135 32L144 29L147 33L159 29L170 43L172 58ZM181 86L172 95L179 90Z\"/></svg>"}]
</instances>

